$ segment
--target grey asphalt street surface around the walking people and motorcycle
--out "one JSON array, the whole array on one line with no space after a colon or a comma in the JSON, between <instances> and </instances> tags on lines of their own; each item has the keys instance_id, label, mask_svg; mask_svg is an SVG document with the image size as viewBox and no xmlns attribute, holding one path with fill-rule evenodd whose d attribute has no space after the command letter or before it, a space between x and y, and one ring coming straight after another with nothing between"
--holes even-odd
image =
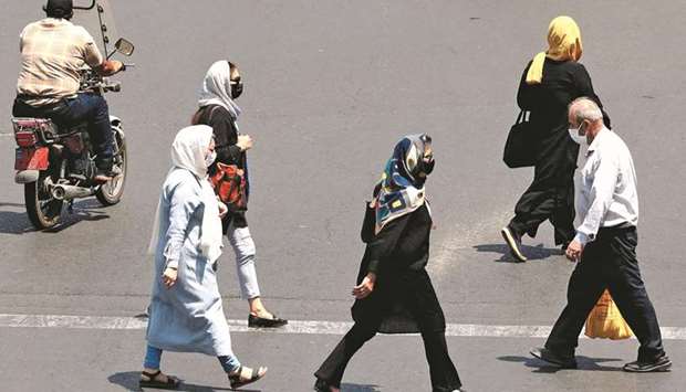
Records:
<instances>
[{"instance_id":1,"label":"grey asphalt street surface around the walking people and motorcycle","mask_svg":"<svg viewBox=\"0 0 686 392\"><path fill-rule=\"evenodd\" d=\"M0 15L0 134L11 133L18 34L42 17L42 3L7 1ZM136 44L136 66L117 76L122 94L107 97L128 138L122 203L80 201L58 230L33 231L13 183L14 141L0 135L0 391L137 390L145 340L135 316L153 279L145 250L168 146L195 110L207 67L227 57L246 83L241 130L256 139L248 220L264 300L302 321L247 331L227 248L219 278L227 317L242 322L232 321L236 352L270 367L253 391L311 389L350 321L363 202L395 141L420 131L434 136L437 160L429 273L469 391L686 390L686 4L118 0L113 8L119 34ZM524 242L532 259L512 263L499 229L532 171L508 170L500 158L519 77L558 14L581 25L582 62L634 156L638 257L668 332L669 373L622 372L635 340L583 339L573 371L541 368L528 354L562 309L573 265L548 224ZM163 367L186 380L184 390L228 390L212 358L165 353ZM353 359L343 391L428 388L420 338L382 336Z\"/></svg>"}]
</instances>

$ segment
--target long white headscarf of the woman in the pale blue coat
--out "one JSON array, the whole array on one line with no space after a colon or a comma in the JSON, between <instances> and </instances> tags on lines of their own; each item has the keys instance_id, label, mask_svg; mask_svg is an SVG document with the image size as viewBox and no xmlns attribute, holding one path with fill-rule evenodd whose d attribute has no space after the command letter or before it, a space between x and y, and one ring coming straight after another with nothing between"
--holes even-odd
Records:
<instances>
[{"instance_id":1,"label":"long white headscarf of the woman in the pale blue coat","mask_svg":"<svg viewBox=\"0 0 686 392\"><path fill-rule=\"evenodd\" d=\"M199 251L210 263L214 263L221 255L221 247L224 244L219 205L217 204L215 191L207 179L207 166L205 165L205 156L211 139L212 128L206 125L190 126L179 130L172 144L173 168L169 170L169 174L179 169L188 170L198 180L201 187L200 197L205 206L200 229ZM167 174L167 177L169 174ZM149 254L155 254L159 242L160 203L162 198L157 204L157 212L155 213L153 237L150 239L150 245L148 247Z\"/></svg>"}]
</instances>

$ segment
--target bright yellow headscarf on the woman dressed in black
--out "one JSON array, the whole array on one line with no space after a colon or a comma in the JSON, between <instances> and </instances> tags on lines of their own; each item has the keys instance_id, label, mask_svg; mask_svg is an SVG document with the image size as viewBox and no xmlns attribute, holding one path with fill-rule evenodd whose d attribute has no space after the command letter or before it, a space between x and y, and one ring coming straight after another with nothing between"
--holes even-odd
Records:
<instances>
[{"instance_id":1,"label":"bright yellow headscarf on the woman dressed in black","mask_svg":"<svg viewBox=\"0 0 686 392\"><path fill-rule=\"evenodd\" d=\"M548 27L548 51L540 52L527 73L527 84L539 84L543 80L545 57L557 61L579 61L583 47L581 31L570 17L558 17Z\"/></svg>"}]
</instances>

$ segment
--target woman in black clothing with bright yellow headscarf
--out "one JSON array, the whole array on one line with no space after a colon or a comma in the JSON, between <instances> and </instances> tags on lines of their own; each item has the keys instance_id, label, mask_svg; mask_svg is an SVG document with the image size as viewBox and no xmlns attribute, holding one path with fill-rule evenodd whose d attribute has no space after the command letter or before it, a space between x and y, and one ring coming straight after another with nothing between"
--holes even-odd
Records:
<instances>
[{"instance_id":1,"label":"woman in black clothing with bright yellow headscarf","mask_svg":"<svg viewBox=\"0 0 686 392\"><path fill-rule=\"evenodd\" d=\"M548 27L548 50L527 65L517 104L530 112L529 120L537 145L533 182L519 199L514 218L501 234L512 255L526 262L521 237L534 237L541 223L554 226L555 245L562 250L572 241L574 230L574 170L579 145L568 134L568 105L586 96L601 107L586 68L579 63L583 46L579 25L570 17L558 17ZM610 118L603 110L605 126Z\"/></svg>"}]
</instances>

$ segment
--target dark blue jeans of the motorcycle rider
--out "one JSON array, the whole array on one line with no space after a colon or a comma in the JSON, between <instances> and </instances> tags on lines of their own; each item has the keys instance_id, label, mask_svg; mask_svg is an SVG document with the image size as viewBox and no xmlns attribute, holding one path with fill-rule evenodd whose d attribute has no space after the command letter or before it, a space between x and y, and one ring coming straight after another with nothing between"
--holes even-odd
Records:
<instances>
[{"instance_id":1,"label":"dark blue jeans of the motorcycle rider","mask_svg":"<svg viewBox=\"0 0 686 392\"><path fill-rule=\"evenodd\" d=\"M110 109L107 102L100 95L79 94L75 98L64 99L60 104L33 107L22 100L14 100L14 117L45 117L60 126L74 126L86 123L89 136L96 153L95 163L100 169L112 168L114 156L114 137L110 128Z\"/></svg>"}]
</instances>

